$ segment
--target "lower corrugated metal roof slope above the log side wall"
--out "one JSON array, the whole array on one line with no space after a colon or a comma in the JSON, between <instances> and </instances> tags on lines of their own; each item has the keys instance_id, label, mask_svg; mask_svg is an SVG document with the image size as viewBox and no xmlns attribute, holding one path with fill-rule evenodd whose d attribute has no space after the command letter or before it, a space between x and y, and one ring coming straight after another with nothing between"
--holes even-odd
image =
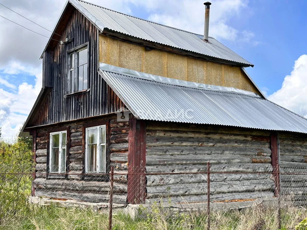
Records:
<instances>
[{"instance_id":1,"label":"lower corrugated metal roof slope above the log side wall","mask_svg":"<svg viewBox=\"0 0 307 230\"><path fill-rule=\"evenodd\" d=\"M305 118L266 99L167 84L158 78L144 79L102 68L99 73L141 119L307 133Z\"/></svg>"}]
</instances>

